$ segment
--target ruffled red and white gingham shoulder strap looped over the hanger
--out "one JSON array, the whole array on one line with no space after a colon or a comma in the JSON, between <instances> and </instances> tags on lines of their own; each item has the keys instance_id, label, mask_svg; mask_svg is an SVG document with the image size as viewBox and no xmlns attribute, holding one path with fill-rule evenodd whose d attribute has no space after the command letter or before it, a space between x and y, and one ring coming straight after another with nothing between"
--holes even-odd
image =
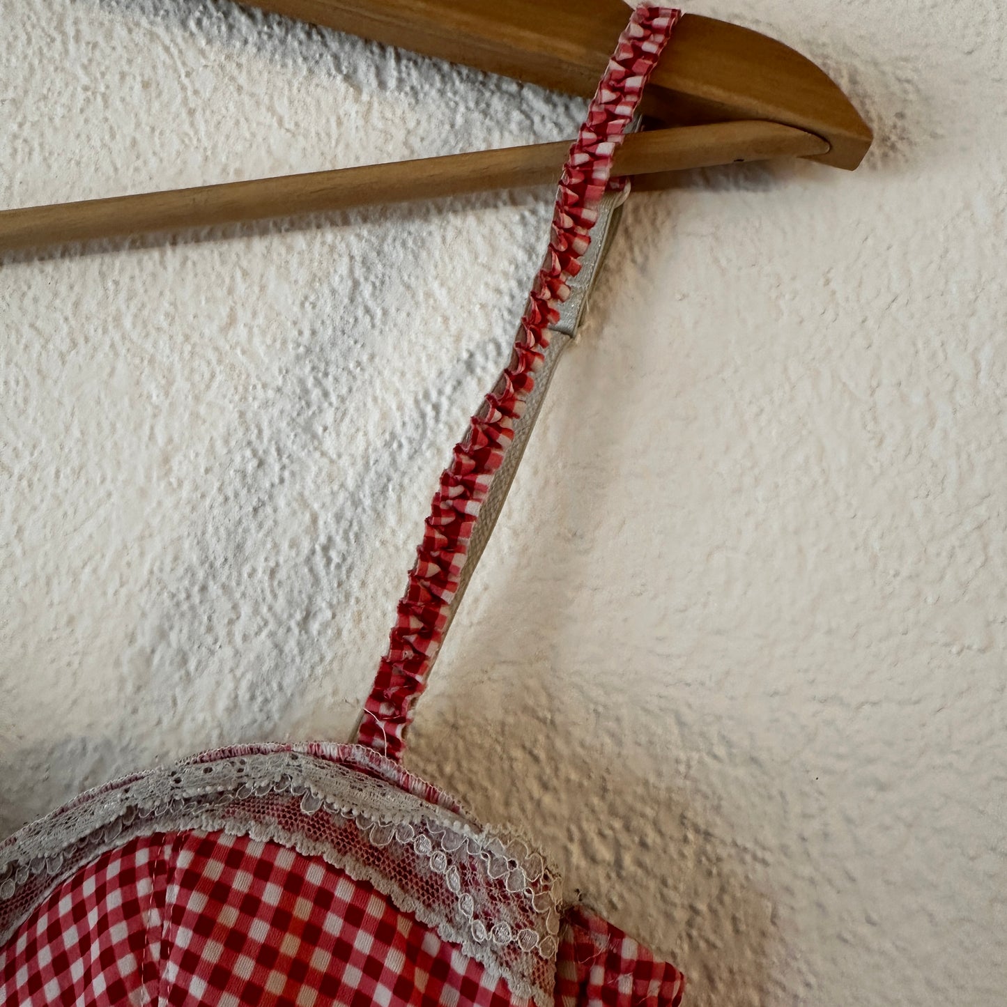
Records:
<instances>
[{"instance_id":1,"label":"ruffled red and white gingham shoulder strap looped over the hanger","mask_svg":"<svg viewBox=\"0 0 1007 1007\"><path fill-rule=\"evenodd\" d=\"M444 634L499 514L531 435L553 369L570 341L571 312L560 308L575 293L602 200L614 211L620 181L612 159L630 129L648 79L680 12L640 5L629 20L587 118L570 148L560 179L546 258L521 319L511 361L472 417L440 478L416 565L399 602L388 653L365 706L357 741L402 757L413 705L423 693ZM607 229L606 229L607 230ZM599 243L601 244L601 243ZM582 315L572 312L572 327ZM566 326L564 326L566 321Z\"/></svg>"}]
</instances>

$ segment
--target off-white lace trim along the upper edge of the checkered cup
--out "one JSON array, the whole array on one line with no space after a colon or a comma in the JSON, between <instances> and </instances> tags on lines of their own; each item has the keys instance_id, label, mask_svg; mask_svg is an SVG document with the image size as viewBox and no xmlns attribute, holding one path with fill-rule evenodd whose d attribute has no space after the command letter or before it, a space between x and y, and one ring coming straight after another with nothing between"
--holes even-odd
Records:
<instances>
[{"instance_id":1,"label":"off-white lace trim along the upper edge of the checkered cup","mask_svg":"<svg viewBox=\"0 0 1007 1007\"><path fill-rule=\"evenodd\" d=\"M300 798L306 816L352 822L370 846L393 844L411 869L443 886L439 901L421 900L380 869L333 845L237 806L271 794ZM26 826L0 846L3 903L31 884L30 904L0 927L0 944L57 884L87 863L130 840L158 832L227 832L320 856L355 880L373 884L397 908L414 914L519 996L540 1007L552 991L534 982L535 960L557 952L559 879L524 841L500 838L462 816L394 784L303 751L267 751L212 761L187 761L128 777L84 795ZM478 879L473 883L473 870ZM499 887L507 903L499 899ZM493 895L489 897L489 888ZM515 920L523 920L516 925ZM541 970L540 970L541 971Z\"/></svg>"}]
</instances>

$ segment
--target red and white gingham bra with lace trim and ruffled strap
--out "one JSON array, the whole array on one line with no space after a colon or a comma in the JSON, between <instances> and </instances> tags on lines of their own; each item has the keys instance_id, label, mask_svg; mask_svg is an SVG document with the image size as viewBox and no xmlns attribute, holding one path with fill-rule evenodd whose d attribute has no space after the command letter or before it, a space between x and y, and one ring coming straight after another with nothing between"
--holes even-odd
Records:
<instances>
[{"instance_id":1,"label":"red and white gingham bra with lace trim and ruffled strap","mask_svg":"<svg viewBox=\"0 0 1007 1007\"><path fill-rule=\"evenodd\" d=\"M510 362L441 476L356 742L197 755L90 790L7 839L0 1002L680 1003L675 968L564 904L541 854L401 765L625 197L614 151L678 18L637 7L590 104Z\"/></svg>"}]
</instances>

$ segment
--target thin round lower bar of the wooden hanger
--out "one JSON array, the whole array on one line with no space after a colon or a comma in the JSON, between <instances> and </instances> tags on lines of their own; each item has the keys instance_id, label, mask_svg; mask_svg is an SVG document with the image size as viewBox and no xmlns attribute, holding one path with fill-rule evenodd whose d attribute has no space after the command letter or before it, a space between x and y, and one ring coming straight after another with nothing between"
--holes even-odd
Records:
<instances>
[{"instance_id":1,"label":"thin round lower bar of the wooden hanger","mask_svg":"<svg viewBox=\"0 0 1007 1007\"><path fill-rule=\"evenodd\" d=\"M0 252L240 224L296 213L433 199L555 182L570 141L507 147L422 160L202 185L0 211ZM627 136L616 175L828 152L817 136L778 123L686 126Z\"/></svg>"}]
</instances>

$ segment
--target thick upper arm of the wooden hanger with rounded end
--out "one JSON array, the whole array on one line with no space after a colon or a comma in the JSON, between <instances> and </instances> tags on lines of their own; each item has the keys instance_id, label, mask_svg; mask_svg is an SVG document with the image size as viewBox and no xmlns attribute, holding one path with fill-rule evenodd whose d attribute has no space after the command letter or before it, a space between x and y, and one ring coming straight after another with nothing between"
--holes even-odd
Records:
<instances>
[{"instance_id":1,"label":"thick upper arm of the wooden hanger with rounded end","mask_svg":"<svg viewBox=\"0 0 1007 1007\"><path fill-rule=\"evenodd\" d=\"M237 0L424 55L589 98L625 26L622 0ZM855 168L872 135L828 75L782 42L698 14L679 22L644 97L681 126L767 119L829 142Z\"/></svg>"}]
</instances>

